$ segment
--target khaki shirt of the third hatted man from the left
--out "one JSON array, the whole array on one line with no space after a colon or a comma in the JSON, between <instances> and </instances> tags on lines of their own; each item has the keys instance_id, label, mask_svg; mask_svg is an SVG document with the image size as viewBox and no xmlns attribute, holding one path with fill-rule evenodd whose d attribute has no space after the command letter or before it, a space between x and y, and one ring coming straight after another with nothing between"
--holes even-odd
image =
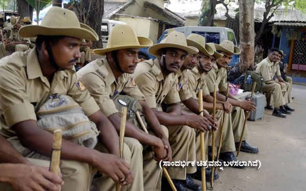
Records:
<instances>
[{"instance_id":1,"label":"khaki shirt of the third hatted man from the left","mask_svg":"<svg viewBox=\"0 0 306 191\"><path fill-rule=\"evenodd\" d=\"M150 108L160 108L163 101L166 104L179 103L181 101L177 91L179 90L179 85L177 84L175 73L170 73L164 78L158 59L151 59L137 64L133 76Z\"/></svg>"}]
</instances>

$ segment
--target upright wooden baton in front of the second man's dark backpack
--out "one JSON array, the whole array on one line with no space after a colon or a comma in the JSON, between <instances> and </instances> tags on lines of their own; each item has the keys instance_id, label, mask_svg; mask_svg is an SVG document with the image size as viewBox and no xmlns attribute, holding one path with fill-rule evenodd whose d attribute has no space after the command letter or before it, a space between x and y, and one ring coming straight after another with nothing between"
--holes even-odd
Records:
<instances>
[{"instance_id":1,"label":"upright wooden baton in front of the second man's dark backpack","mask_svg":"<svg viewBox=\"0 0 306 191\"><path fill-rule=\"evenodd\" d=\"M123 158L123 139L125 133L125 122L126 122L126 107L121 108L121 121L120 121L120 132L119 132L119 157ZM120 181L116 182L116 191L120 191Z\"/></svg>"}]
</instances>

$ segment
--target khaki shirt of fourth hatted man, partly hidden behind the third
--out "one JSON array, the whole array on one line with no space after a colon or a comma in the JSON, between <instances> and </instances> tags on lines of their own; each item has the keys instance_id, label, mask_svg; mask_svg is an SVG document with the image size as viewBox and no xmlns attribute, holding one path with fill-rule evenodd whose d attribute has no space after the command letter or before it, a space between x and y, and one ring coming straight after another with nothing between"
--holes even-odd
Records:
<instances>
[{"instance_id":1,"label":"khaki shirt of fourth hatted man, partly hidden behind the third","mask_svg":"<svg viewBox=\"0 0 306 191\"><path fill-rule=\"evenodd\" d=\"M188 100L189 98L192 98L192 94L189 91L188 87L188 76L187 76L187 69L186 70L179 70L176 73L177 80L179 81L179 95L181 101Z\"/></svg>"}]
</instances>

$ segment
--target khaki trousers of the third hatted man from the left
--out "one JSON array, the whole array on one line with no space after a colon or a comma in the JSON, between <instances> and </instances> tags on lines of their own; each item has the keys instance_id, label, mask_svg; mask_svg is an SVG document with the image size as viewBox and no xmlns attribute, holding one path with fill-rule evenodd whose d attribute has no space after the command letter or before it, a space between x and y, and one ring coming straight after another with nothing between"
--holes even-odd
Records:
<instances>
[{"instance_id":1,"label":"khaki trousers of the third hatted man from the left","mask_svg":"<svg viewBox=\"0 0 306 191\"><path fill-rule=\"evenodd\" d=\"M169 143L172 149L172 161L195 161L195 130L187 125L169 126ZM186 174L196 172L196 166L168 167L172 179L185 180Z\"/></svg>"}]
</instances>

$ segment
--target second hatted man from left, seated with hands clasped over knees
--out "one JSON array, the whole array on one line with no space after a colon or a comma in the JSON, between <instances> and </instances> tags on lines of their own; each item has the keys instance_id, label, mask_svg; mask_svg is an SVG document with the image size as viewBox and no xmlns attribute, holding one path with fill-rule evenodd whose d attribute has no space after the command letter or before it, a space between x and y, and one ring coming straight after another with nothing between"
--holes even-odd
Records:
<instances>
[{"instance_id":1,"label":"second hatted man from left, seated with hands clasped over knees","mask_svg":"<svg viewBox=\"0 0 306 191\"><path fill-rule=\"evenodd\" d=\"M115 25L105 49L95 49L94 52L104 59L96 59L78 71L80 77L100 107L100 110L108 117L117 131L120 130L121 118L116 109L116 103L111 99L117 94L125 94L135 98L142 106L142 111L150 129L157 135L147 134L134 124L126 122L125 143L132 151L132 160L135 168L131 167L137 185L129 186L130 190L160 190L161 169L156 161L171 160L171 148L169 145L168 130L163 130L158 119L150 107L145 103L145 97L135 84L132 74L138 64L139 48L152 45L148 38L137 37L130 25ZM166 133L164 132L166 131ZM143 145L141 145L140 143ZM156 156L152 158L152 152L143 151L145 145L153 146ZM147 147L147 146L146 146ZM144 153L143 161L142 153ZM142 163L144 167L142 168ZM157 185L159 184L159 185Z\"/></svg>"}]
</instances>

